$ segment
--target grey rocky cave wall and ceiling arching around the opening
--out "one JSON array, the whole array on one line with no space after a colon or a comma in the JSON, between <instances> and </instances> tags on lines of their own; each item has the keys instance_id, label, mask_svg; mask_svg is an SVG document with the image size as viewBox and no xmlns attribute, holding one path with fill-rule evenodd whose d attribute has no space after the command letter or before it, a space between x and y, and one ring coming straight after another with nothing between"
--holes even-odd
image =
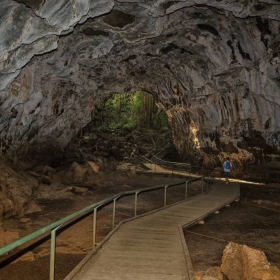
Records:
<instances>
[{"instance_id":1,"label":"grey rocky cave wall and ceiling arching around the opening","mask_svg":"<svg viewBox=\"0 0 280 280\"><path fill-rule=\"evenodd\" d=\"M280 162L280 2L4 0L1 149L55 158L114 93L145 90L182 154Z\"/></svg>"}]
</instances>

